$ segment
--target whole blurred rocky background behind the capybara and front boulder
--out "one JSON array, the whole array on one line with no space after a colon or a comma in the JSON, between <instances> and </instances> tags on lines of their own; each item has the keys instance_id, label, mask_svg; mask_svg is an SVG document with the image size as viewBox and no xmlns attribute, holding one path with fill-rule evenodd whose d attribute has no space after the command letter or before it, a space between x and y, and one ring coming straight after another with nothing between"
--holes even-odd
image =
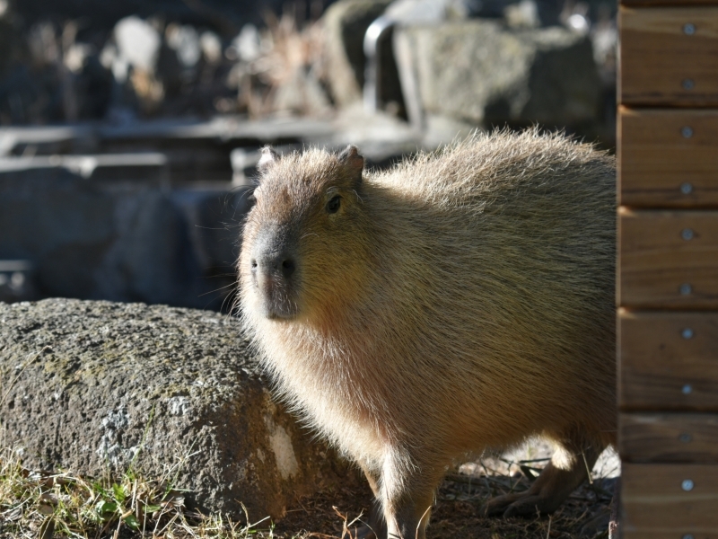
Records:
<instances>
[{"instance_id":1,"label":"whole blurred rocky background behind the capybara and front boulder","mask_svg":"<svg viewBox=\"0 0 718 539\"><path fill-rule=\"evenodd\" d=\"M228 310L258 149L615 146L612 0L0 0L0 301Z\"/></svg>"}]
</instances>

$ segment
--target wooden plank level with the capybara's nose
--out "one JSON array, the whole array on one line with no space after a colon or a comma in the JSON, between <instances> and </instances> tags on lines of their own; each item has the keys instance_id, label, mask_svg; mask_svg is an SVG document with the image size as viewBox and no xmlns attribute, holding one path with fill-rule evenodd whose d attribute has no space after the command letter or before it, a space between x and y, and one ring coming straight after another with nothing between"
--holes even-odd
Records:
<instances>
[{"instance_id":1,"label":"wooden plank level with the capybara's nose","mask_svg":"<svg viewBox=\"0 0 718 539\"><path fill-rule=\"evenodd\" d=\"M618 303L718 309L718 211L619 208Z\"/></svg>"}]
</instances>

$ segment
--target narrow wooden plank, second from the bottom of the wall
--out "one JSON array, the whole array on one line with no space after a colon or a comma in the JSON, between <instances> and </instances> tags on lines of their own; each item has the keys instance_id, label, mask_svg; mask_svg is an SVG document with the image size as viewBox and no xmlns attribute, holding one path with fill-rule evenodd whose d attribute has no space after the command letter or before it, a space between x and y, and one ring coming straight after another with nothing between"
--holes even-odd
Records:
<instances>
[{"instance_id":1,"label":"narrow wooden plank, second from the bottom of the wall","mask_svg":"<svg viewBox=\"0 0 718 539\"><path fill-rule=\"evenodd\" d=\"M618 453L630 463L718 464L718 415L622 413Z\"/></svg>"}]
</instances>

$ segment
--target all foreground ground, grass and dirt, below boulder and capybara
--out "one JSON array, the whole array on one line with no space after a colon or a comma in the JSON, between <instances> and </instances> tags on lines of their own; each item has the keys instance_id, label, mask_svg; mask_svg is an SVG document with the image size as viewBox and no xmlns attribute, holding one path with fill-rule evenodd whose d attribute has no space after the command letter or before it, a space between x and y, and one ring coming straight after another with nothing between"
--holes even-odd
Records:
<instances>
[{"instance_id":1,"label":"all foreground ground, grass and dirt, below boulder and capybara","mask_svg":"<svg viewBox=\"0 0 718 539\"><path fill-rule=\"evenodd\" d=\"M574 492L554 515L530 519L480 517L493 496L525 490L545 459L477 461L472 474L450 473L437 492L429 539L569 539L608 537L586 525L605 520L612 481L597 479ZM180 464L178 464L180 465ZM466 468L461 468L465 471ZM520 471L521 470L521 471ZM121 477L90 478L76 473L31 471L21 454L0 451L0 539L344 539L368 514L366 485L297 499L276 526L267 518L232 519L202 515L184 505L184 492L172 488L176 468L148 480L132 469ZM590 528L591 526L588 526Z\"/></svg>"}]
</instances>

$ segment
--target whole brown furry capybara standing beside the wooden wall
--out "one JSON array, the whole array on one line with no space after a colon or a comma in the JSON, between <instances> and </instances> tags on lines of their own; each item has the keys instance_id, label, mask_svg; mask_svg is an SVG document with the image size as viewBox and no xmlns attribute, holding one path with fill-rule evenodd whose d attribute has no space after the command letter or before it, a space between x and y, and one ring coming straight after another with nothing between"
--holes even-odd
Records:
<instances>
[{"instance_id":1,"label":"whole brown furry capybara standing beside the wooden wall","mask_svg":"<svg viewBox=\"0 0 718 539\"><path fill-rule=\"evenodd\" d=\"M258 169L243 323L285 400L366 474L359 535L425 537L448 465L537 434L550 463L484 510L554 511L616 437L614 159L534 128L385 172L355 146L267 147Z\"/></svg>"}]
</instances>

